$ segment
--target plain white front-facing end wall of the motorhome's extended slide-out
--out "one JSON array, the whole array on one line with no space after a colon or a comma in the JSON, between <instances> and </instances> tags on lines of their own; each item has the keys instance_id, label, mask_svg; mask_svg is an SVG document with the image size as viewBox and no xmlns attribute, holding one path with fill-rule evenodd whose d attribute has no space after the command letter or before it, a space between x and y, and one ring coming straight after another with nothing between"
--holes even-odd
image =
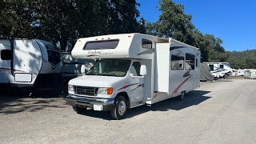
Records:
<instances>
[{"instance_id":1,"label":"plain white front-facing end wall of the motorhome's extended slide-out","mask_svg":"<svg viewBox=\"0 0 256 144\"><path fill-rule=\"evenodd\" d=\"M157 43L155 52L154 91L169 94L169 43Z\"/></svg>"}]
</instances>

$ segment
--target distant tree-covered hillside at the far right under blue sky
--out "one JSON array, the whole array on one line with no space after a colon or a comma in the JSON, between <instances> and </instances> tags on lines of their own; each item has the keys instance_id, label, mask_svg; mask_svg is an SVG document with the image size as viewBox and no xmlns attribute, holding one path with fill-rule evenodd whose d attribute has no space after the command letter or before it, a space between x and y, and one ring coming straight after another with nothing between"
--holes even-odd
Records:
<instances>
[{"instance_id":1,"label":"distant tree-covered hillside at the far right under blue sky","mask_svg":"<svg viewBox=\"0 0 256 144\"><path fill-rule=\"evenodd\" d=\"M232 51L227 62L234 69L256 69L256 50Z\"/></svg>"}]
</instances>

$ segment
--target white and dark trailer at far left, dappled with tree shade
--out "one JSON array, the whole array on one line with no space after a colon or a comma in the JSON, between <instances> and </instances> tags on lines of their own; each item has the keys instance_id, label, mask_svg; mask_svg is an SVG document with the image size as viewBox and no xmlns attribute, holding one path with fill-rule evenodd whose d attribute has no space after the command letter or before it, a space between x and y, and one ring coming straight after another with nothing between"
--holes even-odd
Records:
<instances>
[{"instance_id":1,"label":"white and dark trailer at far left, dappled with tree shade","mask_svg":"<svg viewBox=\"0 0 256 144\"><path fill-rule=\"evenodd\" d=\"M0 39L0 86L57 89L62 58L56 47L38 39Z\"/></svg>"}]
</instances>

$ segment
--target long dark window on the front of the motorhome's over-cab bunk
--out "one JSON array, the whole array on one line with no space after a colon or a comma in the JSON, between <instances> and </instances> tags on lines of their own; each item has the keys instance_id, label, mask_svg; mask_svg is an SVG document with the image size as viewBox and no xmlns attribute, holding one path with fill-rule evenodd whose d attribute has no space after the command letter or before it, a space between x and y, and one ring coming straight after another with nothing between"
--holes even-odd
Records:
<instances>
[{"instance_id":1,"label":"long dark window on the front of the motorhome's over-cab bunk","mask_svg":"<svg viewBox=\"0 0 256 144\"><path fill-rule=\"evenodd\" d=\"M119 39L107 40L107 41L90 41L86 42L83 50L105 50L115 49L118 46Z\"/></svg>"}]
</instances>

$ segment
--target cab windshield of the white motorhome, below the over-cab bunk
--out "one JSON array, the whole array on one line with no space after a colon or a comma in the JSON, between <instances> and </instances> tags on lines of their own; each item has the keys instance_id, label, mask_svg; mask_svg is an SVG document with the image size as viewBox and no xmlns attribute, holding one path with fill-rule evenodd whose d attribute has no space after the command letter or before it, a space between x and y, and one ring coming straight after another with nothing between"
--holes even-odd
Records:
<instances>
[{"instance_id":1,"label":"cab windshield of the white motorhome, below the over-cab bunk","mask_svg":"<svg viewBox=\"0 0 256 144\"><path fill-rule=\"evenodd\" d=\"M130 66L130 60L105 59L97 61L86 75L124 77Z\"/></svg>"}]
</instances>

